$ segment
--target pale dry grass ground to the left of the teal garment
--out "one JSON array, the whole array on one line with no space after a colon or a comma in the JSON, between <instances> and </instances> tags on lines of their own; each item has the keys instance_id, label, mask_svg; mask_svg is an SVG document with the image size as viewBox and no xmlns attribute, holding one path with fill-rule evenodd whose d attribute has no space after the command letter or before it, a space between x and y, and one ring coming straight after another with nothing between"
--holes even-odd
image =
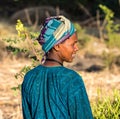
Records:
<instances>
[{"instance_id":1,"label":"pale dry grass ground to the left of the teal garment","mask_svg":"<svg viewBox=\"0 0 120 119\"><path fill-rule=\"evenodd\" d=\"M21 119L20 92L11 90L12 87L21 84L22 80L16 80L14 75L25 65L28 60L9 60L1 62L0 68L0 111L3 118L0 119Z\"/></svg>"}]
</instances>

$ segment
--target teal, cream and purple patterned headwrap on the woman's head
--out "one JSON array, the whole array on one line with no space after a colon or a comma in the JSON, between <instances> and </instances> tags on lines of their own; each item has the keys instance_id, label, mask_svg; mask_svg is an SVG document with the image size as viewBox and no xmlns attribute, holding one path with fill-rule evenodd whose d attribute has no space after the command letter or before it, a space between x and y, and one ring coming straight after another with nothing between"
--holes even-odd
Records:
<instances>
[{"instance_id":1,"label":"teal, cream and purple patterned headwrap on the woman's head","mask_svg":"<svg viewBox=\"0 0 120 119\"><path fill-rule=\"evenodd\" d=\"M75 28L69 19L64 16L46 18L38 37L38 42L42 49L47 53L54 45L57 45L75 32Z\"/></svg>"}]
</instances>

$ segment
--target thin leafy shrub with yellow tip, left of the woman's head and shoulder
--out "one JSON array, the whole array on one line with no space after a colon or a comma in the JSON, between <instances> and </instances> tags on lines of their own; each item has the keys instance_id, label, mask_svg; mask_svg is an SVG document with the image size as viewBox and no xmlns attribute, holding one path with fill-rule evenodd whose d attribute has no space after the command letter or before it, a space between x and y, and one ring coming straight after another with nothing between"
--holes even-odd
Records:
<instances>
[{"instance_id":1,"label":"thin leafy shrub with yellow tip, left of the woman's head and shoulder","mask_svg":"<svg viewBox=\"0 0 120 119\"><path fill-rule=\"evenodd\" d=\"M29 31L28 28L26 28L20 20L17 20L16 24L16 30L18 32L18 39L6 39L6 41L9 43L9 46L7 47L10 51L13 52L13 54L17 54L19 52L33 52L29 54L29 58L32 59L32 64L30 66L24 66L19 73L15 75L15 78L17 80L23 79L26 72L28 72L31 68L38 65L38 63L41 61L42 57L42 50L40 48L39 43L35 38L38 37L38 32L32 32ZM19 44L22 42L22 44L28 44L29 47L23 47L23 48L16 48L13 47L13 44ZM12 88L14 91L20 91L21 90L21 84L18 84L16 87Z\"/></svg>"}]
</instances>

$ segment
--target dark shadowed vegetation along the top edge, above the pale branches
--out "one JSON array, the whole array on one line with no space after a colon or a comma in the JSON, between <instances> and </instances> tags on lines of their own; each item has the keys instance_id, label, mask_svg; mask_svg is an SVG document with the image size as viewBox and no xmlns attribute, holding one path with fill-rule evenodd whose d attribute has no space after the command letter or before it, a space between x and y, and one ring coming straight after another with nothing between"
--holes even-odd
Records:
<instances>
[{"instance_id":1,"label":"dark shadowed vegetation along the top edge, above the pale branches","mask_svg":"<svg viewBox=\"0 0 120 119\"><path fill-rule=\"evenodd\" d=\"M96 16L99 4L110 8L115 17L120 17L119 0L4 0L0 1L0 16L10 17L16 11L28 7L59 6L74 20L85 20Z\"/></svg>"}]
</instances>

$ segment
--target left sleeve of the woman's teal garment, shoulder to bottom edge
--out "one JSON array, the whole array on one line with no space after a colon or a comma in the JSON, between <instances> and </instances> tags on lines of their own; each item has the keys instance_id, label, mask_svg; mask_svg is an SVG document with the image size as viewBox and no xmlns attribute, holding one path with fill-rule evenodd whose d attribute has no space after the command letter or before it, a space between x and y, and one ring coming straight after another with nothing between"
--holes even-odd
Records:
<instances>
[{"instance_id":1,"label":"left sleeve of the woman's teal garment, shoulder to bottom edge","mask_svg":"<svg viewBox=\"0 0 120 119\"><path fill-rule=\"evenodd\" d=\"M23 119L37 119L36 109L39 99L39 85L36 82L37 72L31 70L24 76L22 82L22 113Z\"/></svg>"}]
</instances>

